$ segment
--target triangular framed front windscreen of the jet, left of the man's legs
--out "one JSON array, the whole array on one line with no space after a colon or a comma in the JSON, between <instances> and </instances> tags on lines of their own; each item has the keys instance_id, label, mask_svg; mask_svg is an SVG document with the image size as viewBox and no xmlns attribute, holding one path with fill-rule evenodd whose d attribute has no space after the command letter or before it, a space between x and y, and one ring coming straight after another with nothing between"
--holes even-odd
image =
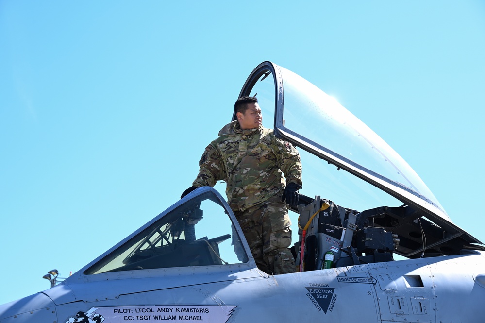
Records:
<instances>
[{"instance_id":1,"label":"triangular framed front windscreen of the jet, left of the man's legs","mask_svg":"<svg viewBox=\"0 0 485 323\"><path fill-rule=\"evenodd\" d=\"M148 225L84 273L220 266L247 261L232 221L217 197L209 192Z\"/></svg>"}]
</instances>

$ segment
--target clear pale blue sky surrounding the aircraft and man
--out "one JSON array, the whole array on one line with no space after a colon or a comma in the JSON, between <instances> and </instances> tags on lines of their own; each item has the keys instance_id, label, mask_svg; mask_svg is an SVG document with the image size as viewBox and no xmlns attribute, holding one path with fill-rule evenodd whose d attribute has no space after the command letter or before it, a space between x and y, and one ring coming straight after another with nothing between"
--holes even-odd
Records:
<instances>
[{"instance_id":1,"label":"clear pale blue sky surrounding the aircraft and man","mask_svg":"<svg viewBox=\"0 0 485 323\"><path fill-rule=\"evenodd\" d=\"M484 57L479 0L0 1L0 303L177 201L266 60L337 98L484 241Z\"/></svg>"}]
</instances>

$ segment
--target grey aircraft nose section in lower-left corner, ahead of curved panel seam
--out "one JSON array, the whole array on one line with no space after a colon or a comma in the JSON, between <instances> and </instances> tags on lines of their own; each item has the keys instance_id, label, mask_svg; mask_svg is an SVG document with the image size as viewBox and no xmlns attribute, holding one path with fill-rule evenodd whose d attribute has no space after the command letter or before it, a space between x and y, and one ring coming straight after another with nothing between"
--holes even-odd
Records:
<instances>
[{"instance_id":1,"label":"grey aircraft nose section in lower-left corner, ahead of curved panel seam","mask_svg":"<svg viewBox=\"0 0 485 323\"><path fill-rule=\"evenodd\" d=\"M43 293L0 305L1 323L57 322L54 302Z\"/></svg>"}]
</instances>

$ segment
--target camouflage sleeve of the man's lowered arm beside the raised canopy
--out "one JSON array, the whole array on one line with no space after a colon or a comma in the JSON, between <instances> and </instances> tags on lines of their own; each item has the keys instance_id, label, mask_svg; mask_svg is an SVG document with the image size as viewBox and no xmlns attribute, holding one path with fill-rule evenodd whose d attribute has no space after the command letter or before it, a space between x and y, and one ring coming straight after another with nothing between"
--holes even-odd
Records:
<instances>
[{"instance_id":1,"label":"camouflage sleeve of the man's lowered arm beside the raised canopy","mask_svg":"<svg viewBox=\"0 0 485 323\"><path fill-rule=\"evenodd\" d=\"M286 184L295 183L302 187L300 153L287 141L274 137L274 143L277 149L278 164L284 174Z\"/></svg>"}]
</instances>

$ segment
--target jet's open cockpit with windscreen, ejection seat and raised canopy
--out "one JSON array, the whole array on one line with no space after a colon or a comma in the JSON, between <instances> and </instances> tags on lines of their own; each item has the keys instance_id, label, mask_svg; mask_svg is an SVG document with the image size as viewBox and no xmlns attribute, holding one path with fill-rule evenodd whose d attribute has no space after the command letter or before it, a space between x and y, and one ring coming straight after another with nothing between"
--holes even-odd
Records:
<instances>
[{"instance_id":1,"label":"jet's open cockpit with windscreen, ejection seat and raised canopy","mask_svg":"<svg viewBox=\"0 0 485 323\"><path fill-rule=\"evenodd\" d=\"M395 254L418 258L485 250L451 221L399 154L315 85L263 62L244 84L239 96L244 95L258 97L263 125L301 154L301 203L292 209L298 214L298 221L292 220L298 271L392 261ZM140 228L84 274L233 268L248 263L250 255L227 203L205 187Z\"/></svg>"}]
</instances>

